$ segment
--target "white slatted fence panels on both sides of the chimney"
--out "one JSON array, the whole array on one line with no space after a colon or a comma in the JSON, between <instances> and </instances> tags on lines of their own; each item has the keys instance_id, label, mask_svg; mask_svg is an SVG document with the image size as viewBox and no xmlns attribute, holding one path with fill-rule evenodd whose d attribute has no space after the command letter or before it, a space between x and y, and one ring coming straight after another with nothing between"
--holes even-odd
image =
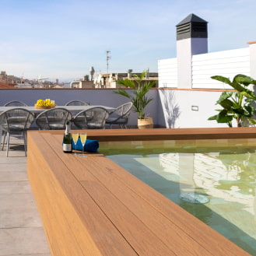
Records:
<instances>
[{"instance_id":1,"label":"white slatted fence panels on both sides of the chimney","mask_svg":"<svg viewBox=\"0 0 256 256\"><path fill-rule=\"evenodd\" d=\"M250 75L249 47L208 54L197 54L192 56L191 61L191 88L230 89L230 86L211 79L211 76L223 75L233 79L233 76L239 73ZM177 58L158 61L158 72L159 87L177 88ZM186 69L184 69L184 72L186 72Z\"/></svg>"}]
</instances>

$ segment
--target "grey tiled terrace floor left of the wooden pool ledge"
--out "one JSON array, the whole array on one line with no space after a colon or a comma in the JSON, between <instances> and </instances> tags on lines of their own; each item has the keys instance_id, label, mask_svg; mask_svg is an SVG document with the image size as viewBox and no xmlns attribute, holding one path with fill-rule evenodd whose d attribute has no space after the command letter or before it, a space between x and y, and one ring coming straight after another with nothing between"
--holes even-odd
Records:
<instances>
[{"instance_id":1,"label":"grey tiled terrace floor left of the wooden pool ledge","mask_svg":"<svg viewBox=\"0 0 256 256\"><path fill-rule=\"evenodd\" d=\"M0 255L51 256L30 182L20 138L0 150ZM2 146L1 148L2 149Z\"/></svg>"}]
</instances>

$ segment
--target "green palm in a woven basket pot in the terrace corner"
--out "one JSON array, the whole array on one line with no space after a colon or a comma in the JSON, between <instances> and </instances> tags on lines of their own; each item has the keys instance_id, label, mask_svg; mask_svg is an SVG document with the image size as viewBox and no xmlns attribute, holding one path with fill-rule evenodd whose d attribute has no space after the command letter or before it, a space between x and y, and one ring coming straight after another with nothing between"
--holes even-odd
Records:
<instances>
[{"instance_id":1,"label":"green palm in a woven basket pot in the terrace corner","mask_svg":"<svg viewBox=\"0 0 256 256\"><path fill-rule=\"evenodd\" d=\"M132 79L117 81L117 85L119 86L132 88L132 93L128 93L125 89L114 91L114 93L125 96L132 101L134 111L138 115L139 128L153 128L153 119L152 117L146 117L145 107L153 100L152 97L146 96L146 93L156 84L156 81L143 80L147 72L144 71L141 75L133 75Z\"/></svg>"}]
</instances>

